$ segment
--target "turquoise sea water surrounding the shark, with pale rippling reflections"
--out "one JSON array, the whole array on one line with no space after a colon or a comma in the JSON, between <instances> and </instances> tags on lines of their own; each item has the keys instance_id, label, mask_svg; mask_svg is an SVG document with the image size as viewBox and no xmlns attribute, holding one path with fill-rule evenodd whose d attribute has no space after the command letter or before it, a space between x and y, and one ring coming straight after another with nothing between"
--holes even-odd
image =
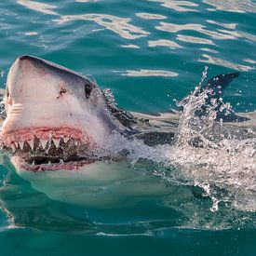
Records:
<instances>
[{"instance_id":1,"label":"turquoise sea water surrounding the shark, with pale rippling reflections","mask_svg":"<svg viewBox=\"0 0 256 256\"><path fill-rule=\"evenodd\" d=\"M17 56L31 54L90 74L122 108L159 114L175 108L208 66L209 77L241 73L225 101L252 112L255 13L252 0L2 1L1 88ZM256 208L244 197L231 207L236 193L217 211L187 184L168 197L94 209L35 190L4 160L1 255L256 255Z\"/></svg>"}]
</instances>

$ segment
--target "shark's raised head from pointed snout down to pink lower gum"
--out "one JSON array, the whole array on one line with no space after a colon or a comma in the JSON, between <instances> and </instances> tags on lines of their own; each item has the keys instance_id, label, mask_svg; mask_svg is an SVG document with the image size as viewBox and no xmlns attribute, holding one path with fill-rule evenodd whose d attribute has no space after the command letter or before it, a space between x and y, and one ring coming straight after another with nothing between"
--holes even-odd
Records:
<instances>
[{"instance_id":1,"label":"shark's raised head from pointed snout down to pink lower gum","mask_svg":"<svg viewBox=\"0 0 256 256\"><path fill-rule=\"evenodd\" d=\"M116 128L95 83L32 56L12 64L4 102L2 144L32 170L88 164Z\"/></svg>"}]
</instances>

